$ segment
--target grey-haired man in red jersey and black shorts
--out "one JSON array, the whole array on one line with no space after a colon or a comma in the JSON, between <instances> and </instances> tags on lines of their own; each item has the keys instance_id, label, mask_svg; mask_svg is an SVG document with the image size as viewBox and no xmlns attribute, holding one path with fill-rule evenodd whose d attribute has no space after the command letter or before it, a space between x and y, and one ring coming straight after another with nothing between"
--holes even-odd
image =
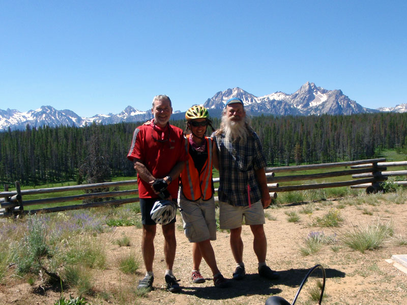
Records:
<instances>
[{"instance_id":1,"label":"grey-haired man in red jersey and black shorts","mask_svg":"<svg viewBox=\"0 0 407 305\"><path fill-rule=\"evenodd\" d=\"M140 281L137 288L153 288L154 273L154 237L156 223L151 219L150 212L154 203L160 198L173 200L178 197L179 176L184 168L188 155L184 146L183 131L169 125L172 114L172 105L169 97L159 95L153 99L152 113L154 119L135 129L131 148L127 158L134 162L137 171L138 193L140 197L140 210L143 224L141 252L146 276ZM160 186L159 192L157 185ZM156 186L156 188L155 188ZM167 269L165 282L171 292L180 291L178 280L172 273L175 259L177 241L175 237L174 218L169 224L162 225L164 235L164 255Z\"/></svg>"}]
</instances>

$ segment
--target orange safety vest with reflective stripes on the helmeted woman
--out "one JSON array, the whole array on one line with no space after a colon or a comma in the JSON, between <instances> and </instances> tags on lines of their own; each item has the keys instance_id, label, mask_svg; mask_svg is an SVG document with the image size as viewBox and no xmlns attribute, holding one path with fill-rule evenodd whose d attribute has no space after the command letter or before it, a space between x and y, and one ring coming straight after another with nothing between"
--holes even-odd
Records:
<instances>
[{"instance_id":1,"label":"orange safety vest with reflective stripes on the helmeted woman","mask_svg":"<svg viewBox=\"0 0 407 305\"><path fill-rule=\"evenodd\" d=\"M195 167L194 160L189 154L189 137L185 141L185 149L188 153L188 160L185 163L184 170L181 173L182 193L185 198L196 201L200 198L209 200L212 198L212 139L207 140L208 159L202 167L200 173Z\"/></svg>"}]
</instances>

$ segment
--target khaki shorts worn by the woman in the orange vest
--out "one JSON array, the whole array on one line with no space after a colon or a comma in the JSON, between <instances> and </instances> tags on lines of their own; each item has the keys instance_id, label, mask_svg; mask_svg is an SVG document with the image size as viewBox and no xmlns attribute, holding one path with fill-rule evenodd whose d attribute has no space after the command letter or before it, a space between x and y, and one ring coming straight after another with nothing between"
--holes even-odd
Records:
<instances>
[{"instance_id":1,"label":"khaki shorts worn by the woman in the orange vest","mask_svg":"<svg viewBox=\"0 0 407 305\"><path fill-rule=\"evenodd\" d=\"M216 240L215 200L189 201L180 192L179 205L189 242Z\"/></svg>"}]
</instances>

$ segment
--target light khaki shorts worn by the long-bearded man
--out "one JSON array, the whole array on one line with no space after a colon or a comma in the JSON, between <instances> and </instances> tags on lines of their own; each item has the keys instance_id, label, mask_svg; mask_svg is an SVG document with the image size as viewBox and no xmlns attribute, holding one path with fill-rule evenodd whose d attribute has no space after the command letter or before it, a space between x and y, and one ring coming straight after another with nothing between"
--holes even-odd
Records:
<instances>
[{"instance_id":1,"label":"light khaki shorts worn by the long-bearded man","mask_svg":"<svg viewBox=\"0 0 407 305\"><path fill-rule=\"evenodd\" d=\"M242 226L243 217L246 225L263 225L266 223L261 200L249 206L233 206L219 201L219 224L221 229L236 229Z\"/></svg>"}]
</instances>

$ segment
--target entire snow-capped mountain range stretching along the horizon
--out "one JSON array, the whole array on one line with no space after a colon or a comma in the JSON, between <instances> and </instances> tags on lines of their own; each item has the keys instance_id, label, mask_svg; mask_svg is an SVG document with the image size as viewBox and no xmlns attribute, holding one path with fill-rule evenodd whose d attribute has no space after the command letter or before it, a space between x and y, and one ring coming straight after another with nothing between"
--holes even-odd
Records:
<instances>
[{"instance_id":1,"label":"entire snow-capped mountain range stretching along the horizon","mask_svg":"<svg viewBox=\"0 0 407 305\"><path fill-rule=\"evenodd\" d=\"M245 109L250 115L274 114L274 115L321 115L321 114L355 114L378 111L407 112L407 104L401 104L392 108L378 108L376 110L362 107L355 101L345 96L341 90L327 90L317 87L314 83L303 84L295 93L286 94L276 92L263 97L256 97L245 90L236 87L217 92L208 99L203 106L209 108L211 116L219 117L226 101L232 97L243 100ZM186 109L184 110L186 111ZM182 119L185 112L175 111L171 118ZM48 125L56 127L60 125L82 127L93 122L98 124L114 124L133 121L146 121L151 119L151 110L140 111L127 106L118 114L97 114L92 117L80 117L75 112L64 109L56 110L51 106L42 106L37 110L21 112L15 109L0 109L0 131L25 129Z\"/></svg>"}]
</instances>

